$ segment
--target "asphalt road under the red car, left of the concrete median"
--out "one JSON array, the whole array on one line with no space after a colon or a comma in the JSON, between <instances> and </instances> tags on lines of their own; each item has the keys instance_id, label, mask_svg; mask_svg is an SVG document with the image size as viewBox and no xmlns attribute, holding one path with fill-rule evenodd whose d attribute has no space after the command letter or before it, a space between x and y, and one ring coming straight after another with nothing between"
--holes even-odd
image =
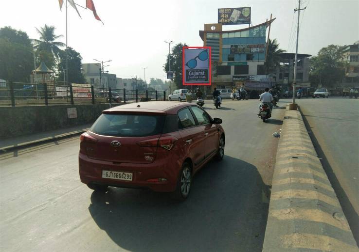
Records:
<instances>
[{"instance_id":1,"label":"asphalt road under the red car, left of the concrete median","mask_svg":"<svg viewBox=\"0 0 359 252\"><path fill-rule=\"evenodd\" d=\"M148 190L94 193L79 181L78 137L1 155L0 251L261 251L284 109L263 123L258 101L206 102L223 119L225 157L182 203Z\"/></svg>"}]
</instances>

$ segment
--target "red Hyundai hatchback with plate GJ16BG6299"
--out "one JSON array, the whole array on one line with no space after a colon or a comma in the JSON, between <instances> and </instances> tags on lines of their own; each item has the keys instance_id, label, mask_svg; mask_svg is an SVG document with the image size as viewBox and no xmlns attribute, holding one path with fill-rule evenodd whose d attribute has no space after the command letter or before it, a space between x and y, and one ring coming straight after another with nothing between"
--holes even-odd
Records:
<instances>
[{"instance_id":1,"label":"red Hyundai hatchback with plate GJ16BG6299","mask_svg":"<svg viewBox=\"0 0 359 252\"><path fill-rule=\"evenodd\" d=\"M179 102L141 102L104 110L81 135L79 173L90 189L149 188L188 197L193 175L221 160L219 118Z\"/></svg>"}]
</instances>

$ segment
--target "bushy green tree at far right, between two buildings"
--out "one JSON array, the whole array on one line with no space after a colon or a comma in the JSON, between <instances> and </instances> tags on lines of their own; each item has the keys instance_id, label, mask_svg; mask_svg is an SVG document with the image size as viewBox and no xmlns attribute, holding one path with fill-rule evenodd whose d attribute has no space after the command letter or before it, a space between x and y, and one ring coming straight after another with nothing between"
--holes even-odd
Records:
<instances>
[{"instance_id":1,"label":"bushy green tree at far right, between two buildings","mask_svg":"<svg viewBox=\"0 0 359 252\"><path fill-rule=\"evenodd\" d=\"M310 58L309 79L321 82L324 86L334 86L345 75L345 63L342 62L342 47L329 45L323 47L317 56Z\"/></svg>"}]
</instances>

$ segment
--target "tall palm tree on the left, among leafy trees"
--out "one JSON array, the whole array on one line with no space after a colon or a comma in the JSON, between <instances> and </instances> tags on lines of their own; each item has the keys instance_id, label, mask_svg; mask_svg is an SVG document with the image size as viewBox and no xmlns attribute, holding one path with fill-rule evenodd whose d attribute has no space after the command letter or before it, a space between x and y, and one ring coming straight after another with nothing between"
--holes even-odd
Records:
<instances>
[{"instance_id":1,"label":"tall palm tree on the left, among leafy trees","mask_svg":"<svg viewBox=\"0 0 359 252\"><path fill-rule=\"evenodd\" d=\"M55 61L58 59L59 54L61 52L60 47L66 46L64 43L56 41L58 38L63 37L62 35L55 35L55 27L48 26L45 24L44 27L40 27L40 30L36 28L37 33L40 35L40 39L33 39L35 42L35 48L37 50L38 55L42 55L38 57L39 61L43 61L49 68L53 68ZM49 60L49 54L41 53L41 51L46 51L53 55L53 60ZM45 56L46 55L46 56Z\"/></svg>"}]
</instances>

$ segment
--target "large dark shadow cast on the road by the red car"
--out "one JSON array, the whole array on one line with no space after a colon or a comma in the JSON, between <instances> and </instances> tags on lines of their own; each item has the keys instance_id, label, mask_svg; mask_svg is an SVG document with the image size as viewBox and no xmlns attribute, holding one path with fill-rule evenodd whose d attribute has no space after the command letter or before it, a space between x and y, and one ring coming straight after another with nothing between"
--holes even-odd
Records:
<instances>
[{"instance_id":1,"label":"large dark shadow cast on the road by the red car","mask_svg":"<svg viewBox=\"0 0 359 252\"><path fill-rule=\"evenodd\" d=\"M262 251L269 189L257 168L225 156L196 174L185 202L167 193L93 192L90 214L121 248L147 251Z\"/></svg>"}]
</instances>

